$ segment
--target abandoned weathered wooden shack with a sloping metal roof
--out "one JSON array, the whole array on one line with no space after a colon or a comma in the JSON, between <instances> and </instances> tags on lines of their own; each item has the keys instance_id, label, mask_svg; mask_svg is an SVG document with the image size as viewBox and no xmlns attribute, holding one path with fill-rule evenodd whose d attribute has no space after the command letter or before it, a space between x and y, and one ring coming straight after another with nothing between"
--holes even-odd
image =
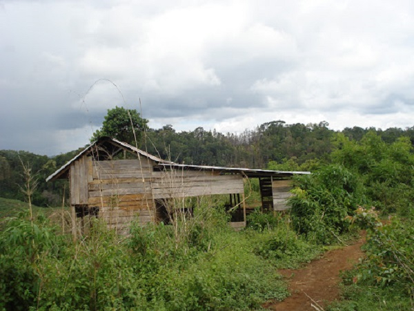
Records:
<instances>
[{"instance_id":1,"label":"abandoned weathered wooden shack with a sloping metal roof","mask_svg":"<svg viewBox=\"0 0 414 311\"><path fill-rule=\"evenodd\" d=\"M132 154L126 159L126 153ZM119 156L120 155L120 156ZM168 221L169 200L229 196L234 210L230 225L246 226L244 178L259 178L262 208L286 209L291 178L309 172L268 171L177 164L152 156L113 138L100 138L50 175L68 178L72 234L85 216L103 218L108 227L125 232L132 220L141 224Z\"/></svg>"}]
</instances>

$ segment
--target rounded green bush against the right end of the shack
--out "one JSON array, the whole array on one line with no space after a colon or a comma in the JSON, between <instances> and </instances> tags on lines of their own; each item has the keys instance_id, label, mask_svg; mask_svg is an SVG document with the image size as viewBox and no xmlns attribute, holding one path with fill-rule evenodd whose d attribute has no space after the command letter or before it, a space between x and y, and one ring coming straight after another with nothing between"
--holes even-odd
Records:
<instances>
[{"instance_id":1,"label":"rounded green bush against the right end of the shack","mask_svg":"<svg viewBox=\"0 0 414 311\"><path fill-rule=\"evenodd\" d=\"M362 200L362 189L355 174L342 165L329 165L313 175L297 178L299 187L289 199L293 228L309 241L331 244L348 232L346 216Z\"/></svg>"}]
</instances>

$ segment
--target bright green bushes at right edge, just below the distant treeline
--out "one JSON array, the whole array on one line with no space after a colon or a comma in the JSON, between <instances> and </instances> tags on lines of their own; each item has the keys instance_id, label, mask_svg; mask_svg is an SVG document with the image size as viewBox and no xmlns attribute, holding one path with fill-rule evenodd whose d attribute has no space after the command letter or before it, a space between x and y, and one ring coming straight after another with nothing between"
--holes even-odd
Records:
<instances>
[{"instance_id":1,"label":"bright green bushes at right edge, just below the distant treeline","mask_svg":"<svg viewBox=\"0 0 414 311\"><path fill-rule=\"evenodd\" d=\"M407 202L414 198L414 149L408 137L386 144L380 135L368 131L359 141L338 134L333 144L333 162L360 176L371 205L384 214L407 213Z\"/></svg>"}]
</instances>

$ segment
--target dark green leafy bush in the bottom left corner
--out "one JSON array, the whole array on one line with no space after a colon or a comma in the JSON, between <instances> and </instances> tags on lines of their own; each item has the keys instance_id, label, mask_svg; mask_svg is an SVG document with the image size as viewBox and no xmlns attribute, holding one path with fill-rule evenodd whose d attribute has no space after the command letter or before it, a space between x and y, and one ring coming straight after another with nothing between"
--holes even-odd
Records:
<instances>
[{"instance_id":1,"label":"dark green leafy bush in the bottom left corner","mask_svg":"<svg viewBox=\"0 0 414 311\"><path fill-rule=\"evenodd\" d=\"M10 218L0 232L0 307L28 310L34 305L42 286L38 265L43 254L59 256L60 242L55 228L42 215L34 225L27 212Z\"/></svg>"}]
</instances>

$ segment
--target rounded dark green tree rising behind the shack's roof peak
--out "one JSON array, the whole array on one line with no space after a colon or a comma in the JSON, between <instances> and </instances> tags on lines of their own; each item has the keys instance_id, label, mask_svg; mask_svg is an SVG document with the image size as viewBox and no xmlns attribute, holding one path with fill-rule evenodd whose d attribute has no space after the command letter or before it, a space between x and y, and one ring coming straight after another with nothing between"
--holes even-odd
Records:
<instances>
[{"instance_id":1,"label":"rounded dark green tree rising behind the shack's roof peak","mask_svg":"<svg viewBox=\"0 0 414 311\"><path fill-rule=\"evenodd\" d=\"M93 142L103 136L110 136L134 146L137 144L139 147L142 132L148 128L147 123L148 120L142 118L135 109L115 106L114 109L108 109L101 129L98 129L90 140Z\"/></svg>"}]
</instances>

